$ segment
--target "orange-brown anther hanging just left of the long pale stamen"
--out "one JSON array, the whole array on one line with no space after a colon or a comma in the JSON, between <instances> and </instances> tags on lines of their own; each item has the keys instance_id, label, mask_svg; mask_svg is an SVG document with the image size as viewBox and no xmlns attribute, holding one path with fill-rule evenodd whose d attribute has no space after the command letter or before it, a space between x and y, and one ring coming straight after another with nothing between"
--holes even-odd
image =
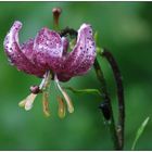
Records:
<instances>
[{"instance_id":1,"label":"orange-brown anther hanging just left of the long pale stamen","mask_svg":"<svg viewBox=\"0 0 152 152\"><path fill-rule=\"evenodd\" d=\"M59 102L59 111L58 111L59 117L64 118L64 116L65 116L65 104L64 104L63 98L58 97L58 102Z\"/></svg>"}]
</instances>

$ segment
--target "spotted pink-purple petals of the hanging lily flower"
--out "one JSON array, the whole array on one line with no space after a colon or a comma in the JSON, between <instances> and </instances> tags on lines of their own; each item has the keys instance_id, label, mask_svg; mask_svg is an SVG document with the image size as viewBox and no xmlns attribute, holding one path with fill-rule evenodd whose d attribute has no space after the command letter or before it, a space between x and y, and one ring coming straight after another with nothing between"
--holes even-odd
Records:
<instances>
[{"instance_id":1,"label":"spotted pink-purple petals of the hanging lily flower","mask_svg":"<svg viewBox=\"0 0 152 152\"><path fill-rule=\"evenodd\" d=\"M76 43L68 52L68 40L47 27L41 28L35 38L23 45L18 42L22 23L16 21L4 39L4 51L9 61L27 74L43 77L47 71L53 72L60 81L84 75L96 59L96 43L92 28L83 24L78 29Z\"/></svg>"}]
</instances>

